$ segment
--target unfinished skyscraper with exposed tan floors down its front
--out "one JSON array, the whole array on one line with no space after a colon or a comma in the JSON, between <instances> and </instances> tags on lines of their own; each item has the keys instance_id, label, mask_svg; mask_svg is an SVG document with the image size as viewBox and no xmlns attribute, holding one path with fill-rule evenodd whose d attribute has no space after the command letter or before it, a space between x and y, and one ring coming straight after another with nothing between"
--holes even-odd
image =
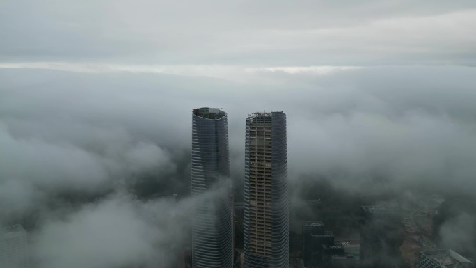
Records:
<instances>
[{"instance_id":1,"label":"unfinished skyscraper with exposed tan floors down its front","mask_svg":"<svg viewBox=\"0 0 476 268\"><path fill-rule=\"evenodd\" d=\"M289 267L286 115L246 118L244 267Z\"/></svg>"}]
</instances>

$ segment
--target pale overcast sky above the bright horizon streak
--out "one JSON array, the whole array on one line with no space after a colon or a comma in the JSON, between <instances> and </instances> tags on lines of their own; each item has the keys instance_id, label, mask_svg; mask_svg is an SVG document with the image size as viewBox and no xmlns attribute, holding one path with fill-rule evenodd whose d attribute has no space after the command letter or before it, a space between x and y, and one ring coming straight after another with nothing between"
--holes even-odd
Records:
<instances>
[{"instance_id":1,"label":"pale overcast sky above the bright horizon streak","mask_svg":"<svg viewBox=\"0 0 476 268\"><path fill-rule=\"evenodd\" d=\"M475 64L474 1L3 1L0 61Z\"/></svg>"}]
</instances>

